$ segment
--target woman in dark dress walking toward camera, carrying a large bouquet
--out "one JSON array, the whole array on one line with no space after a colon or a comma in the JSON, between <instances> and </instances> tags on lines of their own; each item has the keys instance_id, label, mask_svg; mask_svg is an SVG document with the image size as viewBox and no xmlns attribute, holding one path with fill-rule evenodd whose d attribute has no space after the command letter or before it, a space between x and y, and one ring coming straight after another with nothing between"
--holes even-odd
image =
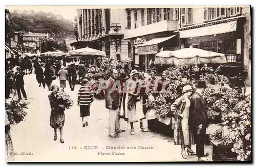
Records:
<instances>
[{"instance_id":1,"label":"woman in dark dress walking toward camera, carrying a large bouquet","mask_svg":"<svg viewBox=\"0 0 256 167\"><path fill-rule=\"evenodd\" d=\"M57 129L59 128L60 133L60 142L64 143L62 132L63 126L65 123L65 107L63 104L60 104L57 97L57 92L59 91L59 87L57 85L52 86L52 93L48 95L51 105L51 116L50 116L50 126L54 129L54 137L53 140L57 140Z\"/></svg>"}]
</instances>

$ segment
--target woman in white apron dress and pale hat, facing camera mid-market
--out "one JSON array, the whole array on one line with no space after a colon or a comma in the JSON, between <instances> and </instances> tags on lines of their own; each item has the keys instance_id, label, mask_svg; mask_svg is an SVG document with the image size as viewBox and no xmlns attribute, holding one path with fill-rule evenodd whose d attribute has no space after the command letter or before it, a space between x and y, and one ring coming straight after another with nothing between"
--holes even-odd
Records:
<instances>
[{"instance_id":1,"label":"woman in white apron dress and pale hat, facing camera mid-market","mask_svg":"<svg viewBox=\"0 0 256 167\"><path fill-rule=\"evenodd\" d=\"M126 81L125 84L125 100L122 101L121 110L124 111L123 115L127 115L127 122L131 124L131 134L134 135L134 122L140 122L141 131L146 132L147 130L143 126L142 119L145 118L142 109L142 96L137 92L139 87L139 72L137 70L132 70L132 77ZM124 107L123 107L124 105ZM122 114L120 115L122 116Z\"/></svg>"}]
</instances>

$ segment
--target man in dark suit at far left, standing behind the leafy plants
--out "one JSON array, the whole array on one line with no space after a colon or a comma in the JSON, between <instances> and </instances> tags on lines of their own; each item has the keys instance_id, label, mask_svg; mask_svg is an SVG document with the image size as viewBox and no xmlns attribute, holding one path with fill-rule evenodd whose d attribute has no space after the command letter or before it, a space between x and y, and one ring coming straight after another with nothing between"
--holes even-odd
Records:
<instances>
[{"instance_id":1,"label":"man in dark suit at far left, standing behind the leafy plants","mask_svg":"<svg viewBox=\"0 0 256 167\"><path fill-rule=\"evenodd\" d=\"M27 94L26 91L24 89L24 72L22 71L21 68L17 68L17 72L15 73L15 86L17 89L17 93L18 93L18 99L21 100L22 99L22 95L20 94L20 91L22 91L23 97L25 98L25 100L27 100Z\"/></svg>"}]
</instances>

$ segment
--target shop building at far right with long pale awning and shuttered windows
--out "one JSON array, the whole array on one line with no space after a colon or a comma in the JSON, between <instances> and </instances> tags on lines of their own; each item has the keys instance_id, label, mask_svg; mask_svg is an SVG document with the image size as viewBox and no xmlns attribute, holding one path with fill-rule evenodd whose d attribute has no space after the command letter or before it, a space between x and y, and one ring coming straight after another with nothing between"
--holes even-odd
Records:
<instances>
[{"instance_id":1,"label":"shop building at far right with long pale awning and shuttered windows","mask_svg":"<svg viewBox=\"0 0 256 167\"><path fill-rule=\"evenodd\" d=\"M239 62L251 83L250 7L179 8L178 26L181 48L190 45L224 53L227 62Z\"/></svg>"}]
</instances>

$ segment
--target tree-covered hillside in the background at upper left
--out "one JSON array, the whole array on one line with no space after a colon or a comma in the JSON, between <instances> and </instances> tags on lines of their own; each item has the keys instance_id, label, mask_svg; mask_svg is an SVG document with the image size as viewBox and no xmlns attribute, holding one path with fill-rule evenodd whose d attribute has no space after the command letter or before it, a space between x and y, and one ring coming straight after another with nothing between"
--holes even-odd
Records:
<instances>
[{"instance_id":1,"label":"tree-covered hillside in the background at upper left","mask_svg":"<svg viewBox=\"0 0 256 167\"><path fill-rule=\"evenodd\" d=\"M74 21L67 20L61 15L33 10L14 10L10 11L9 20L13 32L48 33L53 38L75 38Z\"/></svg>"}]
</instances>

